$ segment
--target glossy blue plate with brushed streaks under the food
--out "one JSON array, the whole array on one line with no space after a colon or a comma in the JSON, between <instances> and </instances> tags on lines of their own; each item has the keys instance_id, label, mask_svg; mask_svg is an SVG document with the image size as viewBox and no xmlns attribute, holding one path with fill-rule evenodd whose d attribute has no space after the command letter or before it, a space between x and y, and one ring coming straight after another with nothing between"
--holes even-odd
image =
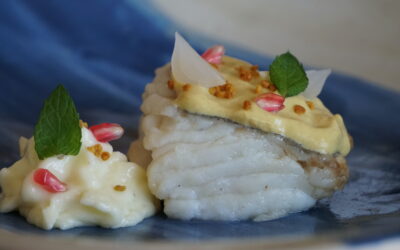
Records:
<instances>
[{"instance_id":1,"label":"glossy blue plate with brushed streaks under the food","mask_svg":"<svg viewBox=\"0 0 400 250\"><path fill-rule=\"evenodd\" d=\"M30 136L43 99L58 84L71 92L90 123L128 128L116 145L135 137L140 96L156 67L170 59L179 27L139 1L0 1L0 166L18 159L17 140ZM182 32L198 50L215 43ZM270 58L226 44L231 56L265 68ZM16 213L1 214L0 228L43 235L118 240L337 234L345 241L400 234L400 95L362 80L333 74L321 99L341 113L355 148L346 188L303 213L270 222L178 221L163 215L135 227L84 227L45 232Z\"/></svg>"}]
</instances>

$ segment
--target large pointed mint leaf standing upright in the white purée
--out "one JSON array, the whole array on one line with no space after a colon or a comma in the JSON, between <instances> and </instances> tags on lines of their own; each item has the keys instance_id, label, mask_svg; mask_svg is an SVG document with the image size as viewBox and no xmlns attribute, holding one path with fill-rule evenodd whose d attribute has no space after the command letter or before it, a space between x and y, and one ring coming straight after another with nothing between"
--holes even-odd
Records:
<instances>
[{"instance_id":1,"label":"large pointed mint leaf standing upright in the white pur\u00e9e","mask_svg":"<svg viewBox=\"0 0 400 250\"><path fill-rule=\"evenodd\" d=\"M40 111L34 132L39 159L64 154L77 155L82 132L74 102L62 85L50 94Z\"/></svg>"}]
</instances>

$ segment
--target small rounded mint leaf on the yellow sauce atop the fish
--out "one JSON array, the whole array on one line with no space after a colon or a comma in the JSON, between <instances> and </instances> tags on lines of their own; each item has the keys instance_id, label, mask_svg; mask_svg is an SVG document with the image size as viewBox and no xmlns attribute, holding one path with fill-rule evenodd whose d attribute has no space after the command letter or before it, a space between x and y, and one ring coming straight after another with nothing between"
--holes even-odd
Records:
<instances>
[{"instance_id":1,"label":"small rounded mint leaf on the yellow sauce atop the fish","mask_svg":"<svg viewBox=\"0 0 400 250\"><path fill-rule=\"evenodd\" d=\"M277 56L269 66L269 76L282 96L295 96L303 92L308 78L303 65L289 51Z\"/></svg>"}]
</instances>

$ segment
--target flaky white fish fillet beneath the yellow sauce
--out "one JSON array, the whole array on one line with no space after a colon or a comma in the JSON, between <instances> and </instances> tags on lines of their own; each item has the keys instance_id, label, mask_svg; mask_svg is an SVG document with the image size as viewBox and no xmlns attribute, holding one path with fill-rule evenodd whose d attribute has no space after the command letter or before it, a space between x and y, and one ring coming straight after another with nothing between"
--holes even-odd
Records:
<instances>
[{"instance_id":1,"label":"flaky white fish fillet beneath the yellow sauce","mask_svg":"<svg viewBox=\"0 0 400 250\"><path fill-rule=\"evenodd\" d=\"M347 180L342 157L178 109L170 70L158 69L146 86L140 138L129 150L131 161L148 166L150 190L169 217L275 219L309 209Z\"/></svg>"}]
</instances>

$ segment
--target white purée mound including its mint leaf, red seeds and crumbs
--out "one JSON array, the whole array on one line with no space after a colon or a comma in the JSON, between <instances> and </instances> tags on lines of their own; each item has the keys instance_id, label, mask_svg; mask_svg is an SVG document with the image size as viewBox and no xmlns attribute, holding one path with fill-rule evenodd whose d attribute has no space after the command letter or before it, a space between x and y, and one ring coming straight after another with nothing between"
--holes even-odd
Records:
<instances>
[{"instance_id":1,"label":"white pur\u00e9e mound including its mint leaf, red seeds and crumbs","mask_svg":"<svg viewBox=\"0 0 400 250\"><path fill-rule=\"evenodd\" d=\"M34 137L20 138L21 159L0 171L0 211L18 210L43 229L118 228L153 215L158 201L145 169L108 143L122 134L118 124L87 128L59 86L42 109Z\"/></svg>"}]
</instances>

